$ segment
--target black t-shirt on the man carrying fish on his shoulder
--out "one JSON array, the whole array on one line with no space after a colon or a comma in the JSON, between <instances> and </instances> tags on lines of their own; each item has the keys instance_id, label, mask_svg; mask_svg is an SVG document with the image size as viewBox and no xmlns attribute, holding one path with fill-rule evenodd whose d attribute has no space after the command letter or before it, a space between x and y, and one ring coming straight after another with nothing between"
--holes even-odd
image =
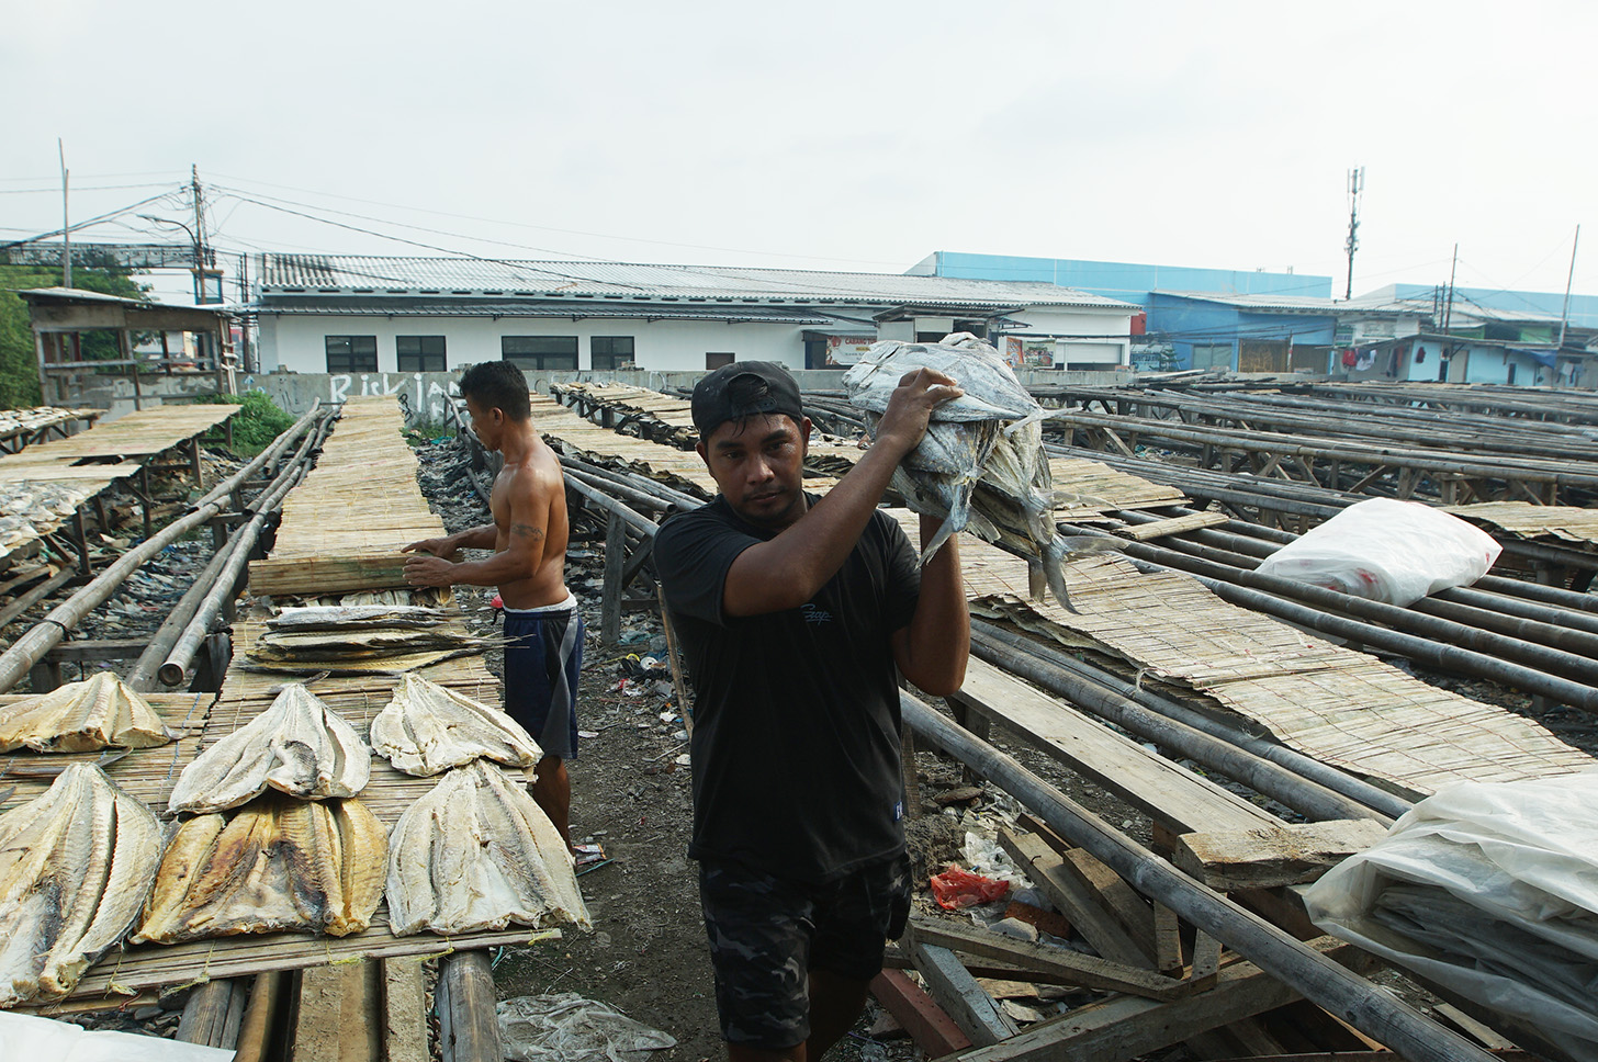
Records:
<instances>
[{"instance_id":1,"label":"black t-shirt on the man carrying fish on his shoulder","mask_svg":"<svg viewBox=\"0 0 1598 1062\"><path fill-rule=\"evenodd\" d=\"M772 537L721 497L655 537L695 696L689 854L826 882L904 848L888 636L909 626L920 567L877 511L810 602L724 616L733 559Z\"/></svg>"}]
</instances>

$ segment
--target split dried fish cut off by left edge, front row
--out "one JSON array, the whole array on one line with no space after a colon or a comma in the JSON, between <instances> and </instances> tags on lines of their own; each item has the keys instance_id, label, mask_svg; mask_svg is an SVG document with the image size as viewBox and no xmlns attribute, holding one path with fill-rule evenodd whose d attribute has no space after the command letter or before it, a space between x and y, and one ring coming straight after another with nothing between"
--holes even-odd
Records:
<instances>
[{"instance_id":1,"label":"split dried fish cut off by left edge, front row","mask_svg":"<svg viewBox=\"0 0 1598 1062\"><path fill-rule=\"evenodd\" d=\"M89 763L0 814L0 1006L72 992L137 921L160 859L161 824Z\"/></svg>"}]
</instances>

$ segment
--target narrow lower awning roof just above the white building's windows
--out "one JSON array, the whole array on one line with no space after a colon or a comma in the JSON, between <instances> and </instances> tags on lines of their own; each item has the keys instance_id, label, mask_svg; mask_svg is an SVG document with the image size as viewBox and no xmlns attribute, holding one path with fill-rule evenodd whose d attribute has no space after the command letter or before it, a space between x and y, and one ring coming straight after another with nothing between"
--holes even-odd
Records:
<instances>
[{"instance_id":1,"label":"narrow lower awning roof just above the white building's windows","mask_svg":"<svg viewBox=\"0 0 1598 1062\"><path fill-rule=\"evenodd\" d=\"M615 303L572 300L483 300L444 302L436 299L294 299L273 302L260 310L268 315L339 316L449 316L449 318L647 318L652 321L761 321L765 324L837 324L836 316L793 307L679 305L673 302ZM857 331L860 326L853 326Z\"/></svg>"}]
</instances>

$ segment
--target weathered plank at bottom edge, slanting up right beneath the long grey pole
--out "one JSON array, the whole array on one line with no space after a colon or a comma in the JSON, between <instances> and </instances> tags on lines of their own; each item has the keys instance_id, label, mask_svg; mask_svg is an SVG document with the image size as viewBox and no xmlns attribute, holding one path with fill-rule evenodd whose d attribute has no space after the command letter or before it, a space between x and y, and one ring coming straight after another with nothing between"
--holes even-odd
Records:
<instances>
[{"instance_id":1,"label":"weathered plank at bottom edge, slanting up right beneath the long grey pole","mask_svg":"<svg viewBox=\"0 0 1598 1062\"><path fill-rule=\"evenodd\" d=\"M1318 937L1310 947L1338 961L1355 953L1354 945L1336 937ZM1221 968L1210 992L1168 1003L1112 997L1034 1025L1000 1044L951 1057L960 1062L1125 1062L1296 998L1293 989L1238 960Z\"/></svg>"}]
</instances>

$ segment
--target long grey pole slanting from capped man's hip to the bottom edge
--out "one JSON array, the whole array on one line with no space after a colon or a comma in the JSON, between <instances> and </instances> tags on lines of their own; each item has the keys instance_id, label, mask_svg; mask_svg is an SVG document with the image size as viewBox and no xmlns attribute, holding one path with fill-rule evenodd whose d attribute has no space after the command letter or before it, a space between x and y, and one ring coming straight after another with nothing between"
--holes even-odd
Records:
<instances>
[{"instance_id":1,"label":"long grey pole slanting from capped man's hip to the bottom edge","mask_svg":"<svg viewBox=\"0 0 1598 1062\"><path fill-rule=\"evenodd\" d=\"M1031 808L1050 829L1093 853L1141 894L1170 907L1243 955L1310 1003L1411 1062L1491 1062L1493 1056L1382 992L1365 977L1306 947L1259 915L1205 888L1165 859L1112 829L1037 775L986 741L900 693L904 723L917 738L943 749ZM1002 1049L1004 1044L989 1051ZM983 1049L970 1062L983 1062Z\"/></svg>"}]
</instances>

